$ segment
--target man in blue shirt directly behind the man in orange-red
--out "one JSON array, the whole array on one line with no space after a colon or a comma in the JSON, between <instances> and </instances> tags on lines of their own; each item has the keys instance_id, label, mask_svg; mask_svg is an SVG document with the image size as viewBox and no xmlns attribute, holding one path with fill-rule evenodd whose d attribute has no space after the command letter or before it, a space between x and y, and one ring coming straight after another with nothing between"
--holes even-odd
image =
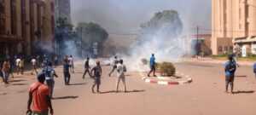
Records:
<instances>
[{"instance_id":1,"label":"man in blue shirt directly behind the man in orange-red","mask_svg":"<svg viewBox=\"0 0 256 115\"><path fill-rule=\"evenodd\" d=\"M55 78L58 78L58 75L55 73L51 62L48 62L47 66L44 67L43 73L45 76L46 84L49 87L49 96L52 98L55 88Z\"/></svg>"}]
</instances>

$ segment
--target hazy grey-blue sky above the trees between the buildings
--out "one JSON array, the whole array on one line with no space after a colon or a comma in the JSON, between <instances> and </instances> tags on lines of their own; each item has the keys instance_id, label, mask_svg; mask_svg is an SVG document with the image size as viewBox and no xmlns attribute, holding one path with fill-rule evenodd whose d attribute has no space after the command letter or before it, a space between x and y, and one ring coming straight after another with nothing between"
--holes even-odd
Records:
<instances>
[{"instance_id":1,"label":"hazy grey-blue sky above the trees between the buildings","mask_svg":"<svg viewBox=\"0 0 256 115\"><path fill-rule=\"evenodd\" d=\"M71 0L72 20L93 21L108 32L137 32L155 12L175 9L187 28L211 27L211 0Z\"/></svg>"}]
</instances>

